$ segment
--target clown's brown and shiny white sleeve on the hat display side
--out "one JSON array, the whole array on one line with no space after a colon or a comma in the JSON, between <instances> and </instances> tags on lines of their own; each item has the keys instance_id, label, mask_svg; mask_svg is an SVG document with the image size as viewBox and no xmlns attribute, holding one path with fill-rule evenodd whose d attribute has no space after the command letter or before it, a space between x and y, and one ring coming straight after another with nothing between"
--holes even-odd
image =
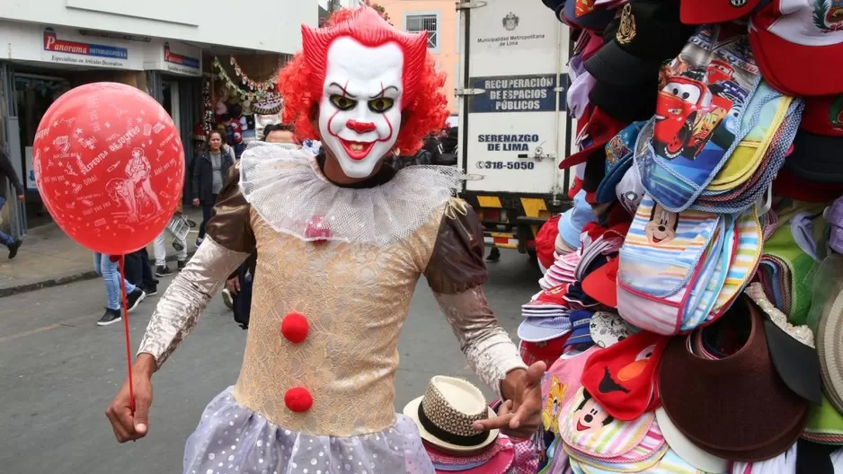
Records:
<instances>
[{"instance_id":1,"label":"clown's brown and shiny white sleeve on the hat display side","mask_svg":"<svg viewBox=\"0 0 843 474\"><path fill-rule=\"evenodd\" d=\"M465 201L448 203L424 276L448 319L468 365L498 395L507 374L527 366L498 324L480 287L486 282L483 224Z\"/></svg>"}]
</instances>

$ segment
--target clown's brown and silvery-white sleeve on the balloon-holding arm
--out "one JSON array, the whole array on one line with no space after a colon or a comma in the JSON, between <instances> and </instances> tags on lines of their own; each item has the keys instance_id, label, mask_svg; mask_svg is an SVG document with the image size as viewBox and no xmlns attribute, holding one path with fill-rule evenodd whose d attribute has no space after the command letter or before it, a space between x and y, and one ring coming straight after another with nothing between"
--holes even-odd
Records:
<instances>
[{"instance_id":1,"label":"clown's brown and silvery-white sleeve on the balloon-holding arm","mask_svg":"<svg viewBox=\"0 0 843 474\"><path fill-rule=\"evenodd\" d=\"M157 367L187 337L219 287L254 250L249 204L240 192L239 171L237 163L219 192L205 240L164 292L146 327L138 355L152 355Z\"/></svg>"}]
</instances>

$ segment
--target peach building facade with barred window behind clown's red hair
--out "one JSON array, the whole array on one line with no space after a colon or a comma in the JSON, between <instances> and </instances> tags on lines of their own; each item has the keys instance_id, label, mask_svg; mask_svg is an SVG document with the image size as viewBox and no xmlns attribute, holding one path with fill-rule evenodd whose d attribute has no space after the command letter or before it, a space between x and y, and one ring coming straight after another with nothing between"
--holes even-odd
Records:
<instances>
[{"instance_id":1,"label":"peach building facade with barred window behind clown's red hair","mask_svg":"<svg viewBox=\"0 0 843 474\"><path fill-rule=\"evenodd\" d=\"M428 31L428 49L439 70L448 74L448 110L457 115L459 13L454 0L384 0L389 21L403 31Z\"/></svg>"}]
</instances>

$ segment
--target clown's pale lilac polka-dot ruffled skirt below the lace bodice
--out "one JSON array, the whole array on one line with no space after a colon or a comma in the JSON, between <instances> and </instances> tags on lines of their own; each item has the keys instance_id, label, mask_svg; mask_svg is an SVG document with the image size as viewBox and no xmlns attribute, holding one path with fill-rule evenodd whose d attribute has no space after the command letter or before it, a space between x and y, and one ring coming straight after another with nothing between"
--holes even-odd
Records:
<instances>
[{"instance_id":1,"label":"clown's pale lilac polka-dot ruffled skirt below the lace bodice","mask_svg":"<svg viewBox=\"0 0 843 474\"><path fill-rule=\"evenodd\" d=\"M184 474L433 474L419 430L397 415L391 428L317 436L272 425L244 408L232 387L211 401L184 448Z\"/></svg>"}]
</instances>

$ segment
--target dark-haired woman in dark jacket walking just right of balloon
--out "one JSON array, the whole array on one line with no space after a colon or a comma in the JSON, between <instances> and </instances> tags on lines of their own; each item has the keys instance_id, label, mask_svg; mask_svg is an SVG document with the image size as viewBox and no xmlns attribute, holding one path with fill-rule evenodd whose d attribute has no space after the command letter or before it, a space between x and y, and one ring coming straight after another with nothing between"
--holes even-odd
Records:
<instances>
[{"instance_id":1,"label":"dark-haired woman in dark jacket walking just right of balloon","mask_svg":"<svg viewBox=\"0 0 843 474\"><path fill-rule=\"evenodd\" d=\"M226 151L223 136L217 130L208 135L208 150L193 164L193 206L202 206L202 224L199 228L199 247L205 238L205 224L217 203L217 193L226 184L228 169L235 163L234 157Z\"/></svg>"}]
</instances>

